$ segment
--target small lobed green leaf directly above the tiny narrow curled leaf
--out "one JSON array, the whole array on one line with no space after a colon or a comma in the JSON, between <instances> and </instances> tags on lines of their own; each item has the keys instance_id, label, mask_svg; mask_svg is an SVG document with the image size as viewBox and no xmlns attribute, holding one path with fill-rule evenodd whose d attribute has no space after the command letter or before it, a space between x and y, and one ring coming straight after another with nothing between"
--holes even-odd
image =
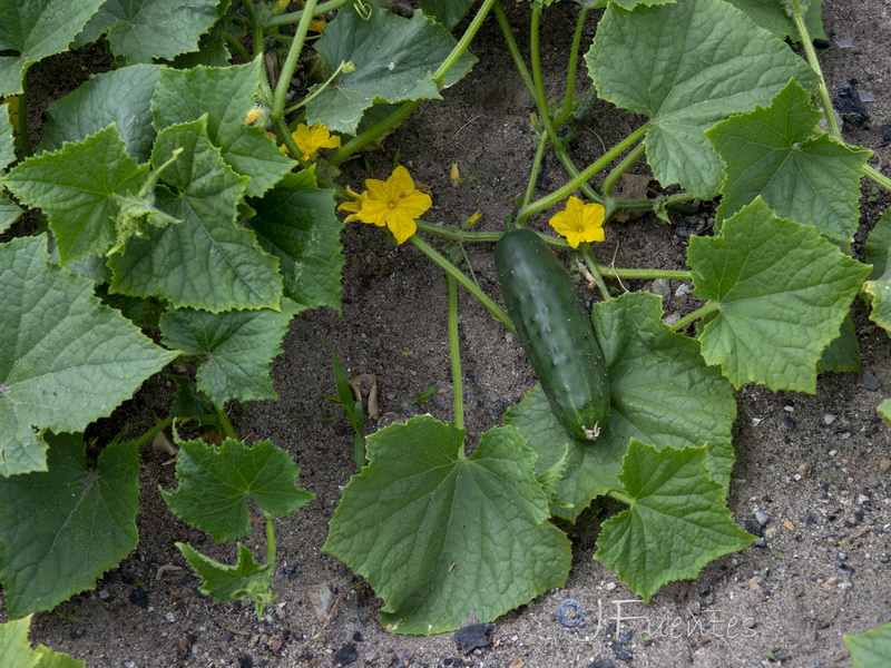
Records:
<instances>
[{"instance_id":1,"label":"small lobed green leaf directly above the tiny narrow curled leaf","mask_svg":"<svg viewBox=\"0 0 891 668\"><path fill-rule=\"evenodd\" d=\"M193 527L223 542L251 533L247 497L275 517L288 514L315 498L297 487L300 469L270 441L247 448L226 439L217 450L195 441L178 441L179 488L160 490L170 509Z\"/></svg>"}]
</instances>

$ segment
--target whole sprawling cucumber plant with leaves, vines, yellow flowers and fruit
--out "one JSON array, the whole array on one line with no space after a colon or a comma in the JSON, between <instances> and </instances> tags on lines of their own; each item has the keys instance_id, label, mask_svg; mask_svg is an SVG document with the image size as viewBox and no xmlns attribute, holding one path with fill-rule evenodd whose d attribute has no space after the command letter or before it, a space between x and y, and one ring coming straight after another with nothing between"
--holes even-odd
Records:
<instances>
[{"instance_id":1,"label":"whole sprawling cucumber plant with leaves, vines, yellow flowers and fruit","mask_svg":"<svg viewBox=\"0 0 891 668\"><path fill-rule=\"evenodd\" d=\"M275 399L270 364L292 318L340 308L335 196L346 220L389 228L447 275L453 423L419 415L364 443L358 434L356 463L366 458L368 465L344 488L324 547L368 579L388 628L431 633L471 616L493 620L561 587L571 551L551 519L572 522L599 497L627 509L605 522L595 558L645 600L751 542L726 508L734 387L814 392L820 371L851 369L856 341L845 318L858 295L891 330L891 216L866 239L869 264L850 247L861 177L885 189L891 180L814 104L832 107L811 46L811 37L824 37L819 1L764 11L741 0L580 1L557 101L545 94L539 43L551 3L531 2L528 62L500 0L483 0L464 21L472 0L420 0L411 18L382 0L306 0L297 11L263 0L146 0L176 19L164 39L146 38L156 35L153 14L140 8L0 6L0 49L12 53L0 58L0 96L10 111L13 98L19 108L0 115L8 191L0 227L11 229L0 245L0 582L10 617L51 609L126 557L138 539L139 445L175 420L206 421L207 413L225 441L182 441L179 488L165 498L215 539L235 540L249 529L253 497L264 511L267 560L257 563L239 544L237 563L226 566L178 547L204 591L255 600L258 612L272 599L273 520L310 494L296 487L285 452L238 439L225 407ZM595 7L604 16L582 55ZM402 166L386 181L366 180L363 193L340 183L347 158L470 71L469 47L487 18L537 109L537 151L511 222L521 229L420 219L430 197ZM322 36L307 39L321 20L329 21ZM101 36L112 69L53 102L32 146L29 68ZM291 99L309 55L321 77ZM579 96L580 58L590 86ZM569 138L597 97L646 120L578 166ZM549 151L566 181L535 199ZM655 199L616 197L618 179L643 155L664 190ZM575 234L555 216L567 240L532 232L575 193L598 204L606 224L631 210L670 220L691 200L721 196L716 235L692 240L688 271L607 271L584 229ZM16 224L23 208L39 219L33 233ZM507 312L429 243L435 237L498 242ZM590 317L546 244L578 253L603 297ZM668 326L658 297L615 297L607 276L689 279L703 306ZM458 285L519 335L541 380L469 456ZM696 336L682 334L694 322ZM149 326L159 341L145 335ZM177 380L169 414L88 459L84 431L176 360L197 371ZM891 421L891 400L879 411ZM258 473L258 485L239 487L233 503L208 507L208 494L233 487L226 471L238 466L268 480ZM65 502L41 504L37 489ZM59 544L78 557L77 568L59 568Z\"/></svg>"}]
</instances>

